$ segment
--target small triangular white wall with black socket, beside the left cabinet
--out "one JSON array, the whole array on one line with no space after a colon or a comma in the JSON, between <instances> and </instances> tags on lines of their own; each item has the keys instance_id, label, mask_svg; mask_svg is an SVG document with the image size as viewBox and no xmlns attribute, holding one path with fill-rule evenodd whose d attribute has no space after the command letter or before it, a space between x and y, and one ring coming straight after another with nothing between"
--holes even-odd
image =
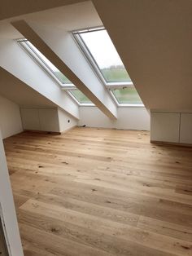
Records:
<instances>
[{"instance_id":1,"label":"small triangular white wall with black socket, beside the left cabinet","mask_svg":"<svg viewBox=\"0 0 192 256\"><path fill-rule=\"evenodd\" d=\"M62 109L58 109L59 115L59 131L65 132L70 130L72 127L77 126L77 119L70 117L68 113L64 112Z\"/></svg>"}]
</instances>

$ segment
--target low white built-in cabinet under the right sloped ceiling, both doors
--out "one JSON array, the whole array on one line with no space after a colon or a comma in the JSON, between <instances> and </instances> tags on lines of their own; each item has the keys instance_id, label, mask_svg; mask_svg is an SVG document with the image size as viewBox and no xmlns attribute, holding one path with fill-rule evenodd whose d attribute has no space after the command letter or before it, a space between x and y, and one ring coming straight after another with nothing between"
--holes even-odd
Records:
<instances>
[{"instance_id":1,"label":"low white built-in cabinet under the right sloped ceiling, both doors","mask_svg":"<svg viewBox=\"0 0 192 256\"><path fill-rule=\"evenodd\" d=\"M192 113L151 112L151 141L192 144Z\"/></svg>"}]
</instances>

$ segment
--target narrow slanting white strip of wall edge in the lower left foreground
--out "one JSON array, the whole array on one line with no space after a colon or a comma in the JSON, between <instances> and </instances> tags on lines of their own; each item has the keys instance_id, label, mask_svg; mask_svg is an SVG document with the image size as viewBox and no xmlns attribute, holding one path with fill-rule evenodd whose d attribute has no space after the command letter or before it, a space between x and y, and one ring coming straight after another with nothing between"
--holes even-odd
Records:
<instances>
[{"instance_id":1,"label":"narrow slanting white strip of wall edge in the lower left foreground","mask_svg":"<svg viewBox=\"0 0 192 256\"><path fill-rule=\"evenodd\" d=\"M0 204L2 216L6 227L7 240L12 256L23 256L20 242L20 232L17 224L15 206L11 192L11 183L7 170L7 162L0 132Z\"/></svg>"}]
</instances>

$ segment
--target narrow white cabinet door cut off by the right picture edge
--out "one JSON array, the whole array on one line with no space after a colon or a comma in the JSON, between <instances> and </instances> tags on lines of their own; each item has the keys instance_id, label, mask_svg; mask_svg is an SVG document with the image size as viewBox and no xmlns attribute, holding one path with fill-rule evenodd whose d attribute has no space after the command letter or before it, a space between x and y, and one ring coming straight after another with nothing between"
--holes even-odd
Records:
<instances>
[{"instance_id":1,"label":"narrow white cabinet door cut off by the right picture edge","mask_svg":"<svg viewBox=\"0 0 192 256\"><path fill-rule=\"evenodd\" d=\"M192 113L181 113L180 143L192 144Z\"/></svg>"}]
</instances>

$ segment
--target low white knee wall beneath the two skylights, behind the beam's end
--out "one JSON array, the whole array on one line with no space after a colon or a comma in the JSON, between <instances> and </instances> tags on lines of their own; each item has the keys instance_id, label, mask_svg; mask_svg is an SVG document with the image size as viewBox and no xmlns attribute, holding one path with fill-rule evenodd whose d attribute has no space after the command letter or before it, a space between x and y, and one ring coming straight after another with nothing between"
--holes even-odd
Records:
<instances>
[{"instance_id":1,"label":"low white knee wall beneath the two skylights, behind the beam's end","mask_svg":"<svg viewBox=\"0 0 192 256\"><path fill-rule=\"evenodd\" d=\"M146 108L118 108L118 119L111 120L96 107L81 107L78 126L150 130L150 115Z\"/></svg>"}]
</instances>

